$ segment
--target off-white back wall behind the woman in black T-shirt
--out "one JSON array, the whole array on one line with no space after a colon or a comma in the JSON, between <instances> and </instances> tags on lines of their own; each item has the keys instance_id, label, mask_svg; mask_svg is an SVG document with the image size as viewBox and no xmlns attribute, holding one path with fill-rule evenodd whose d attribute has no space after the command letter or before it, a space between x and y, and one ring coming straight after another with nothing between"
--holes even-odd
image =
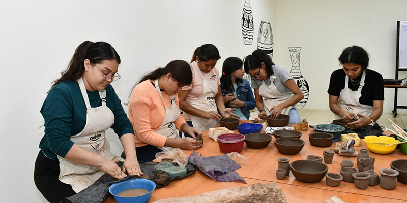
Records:
<instances>
[{"instance_id":1,"label":"off-white back wall behind the woman in black T-shirt","mask_svg":"<svg viewBox=\"0 0 407 203\"><path fill-rule=\"evenodd\" d=\"M394 79L396 21L407 20L406 7L403 0L277 0L273 60L290 70L288 47L302 47L301 72L310 86L304 109L329 109L329 78L348 46L367 49L369 68ZM399 90L399 105L407 105L406 92ZM394 89L385 88L384 112L392 111L393 96Z\"/></svg>"}]
</instances>

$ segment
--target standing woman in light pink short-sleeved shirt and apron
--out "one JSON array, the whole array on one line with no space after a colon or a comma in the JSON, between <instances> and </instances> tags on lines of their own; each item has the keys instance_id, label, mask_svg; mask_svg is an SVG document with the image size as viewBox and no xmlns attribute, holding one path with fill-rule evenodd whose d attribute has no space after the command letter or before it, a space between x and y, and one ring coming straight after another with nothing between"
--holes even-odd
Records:
<instances>
[{"instance_id":1,"label":"standing woman in light pink short-sleeved shirt and apron","mask_svg":"<svg viewBox=\"0 0 407 203\"><path fill-rule=\"evenodd\" d=\"M196 48L190 63L192 84L179 92L184 119L189 126L198 127L201 131L216 125L222 117L239 118L232 113L236 109L225 108L219 71L214 68L219 59L219 51L213 44ZM185 133L185 136L189 135Z\"/></svg>"}]
</instances>

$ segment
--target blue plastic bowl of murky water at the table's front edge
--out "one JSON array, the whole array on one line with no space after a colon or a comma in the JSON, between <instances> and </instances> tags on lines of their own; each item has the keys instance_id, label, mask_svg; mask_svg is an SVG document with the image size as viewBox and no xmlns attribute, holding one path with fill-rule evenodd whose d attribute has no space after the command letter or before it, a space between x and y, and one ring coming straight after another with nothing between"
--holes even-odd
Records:
<instances>
[{"instance_id":1,"label":"blue plastic bowl of murky water at the table's front edge","mask_svg":"<svg viewBox=\"0 0 407 203\"><path fill-rule=\"evenodd\" d=\"M147 194L143 194L140 196L135 196L135 197L123 197L123 196L118 196L120 192L128 189L133 189L133 188L142 188L146 189L149 192ZM110 194L113 195L114 200L117 203L132 203L132 202L139 202L139 203L145 203L150 200L151 197L151 192L156 188L156 184L153 181L147 180L147 179L129 179L125 180L119 183L114 183L113 185L110 186L109 192Z\"/></svg>"}]
</instances>

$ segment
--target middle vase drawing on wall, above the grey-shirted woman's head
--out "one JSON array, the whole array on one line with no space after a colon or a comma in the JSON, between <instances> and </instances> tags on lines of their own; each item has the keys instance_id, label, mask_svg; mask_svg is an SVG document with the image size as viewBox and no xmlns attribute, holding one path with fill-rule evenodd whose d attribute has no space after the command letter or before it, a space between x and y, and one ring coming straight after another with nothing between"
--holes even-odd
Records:
<instances>
[{"instance_id":1,"label":"middle vase drawing on wall, above the grey-shirted woman's head","mask_svg":"<svg viewBox=\"0 0 407 203\"><path fill-rule=\"evenodd\" d=\"M261 21L258 28L257 49L266 52L270 58L273 58L273 33L270 22Z\"/></svg>"}]
</instances>

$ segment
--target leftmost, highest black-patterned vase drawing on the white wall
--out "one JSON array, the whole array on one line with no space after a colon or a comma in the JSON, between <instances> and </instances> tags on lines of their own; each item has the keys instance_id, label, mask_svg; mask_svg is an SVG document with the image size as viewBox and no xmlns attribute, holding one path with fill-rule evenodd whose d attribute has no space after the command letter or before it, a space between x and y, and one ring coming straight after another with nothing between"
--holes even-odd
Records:
<instances>
[{"instance_id":1,"label":"leftmost, highest black-patterned vase drawing on the white wall","mask_svg":"<svg viewBox=\"0 0 407 203\"><path fill-rule=\"evenodd\" d=\"M245 0L245 6L242 12L242 35L245 45L253 43L253 15L251 13L250 0Z\"/></svg>"}]
</instances>

